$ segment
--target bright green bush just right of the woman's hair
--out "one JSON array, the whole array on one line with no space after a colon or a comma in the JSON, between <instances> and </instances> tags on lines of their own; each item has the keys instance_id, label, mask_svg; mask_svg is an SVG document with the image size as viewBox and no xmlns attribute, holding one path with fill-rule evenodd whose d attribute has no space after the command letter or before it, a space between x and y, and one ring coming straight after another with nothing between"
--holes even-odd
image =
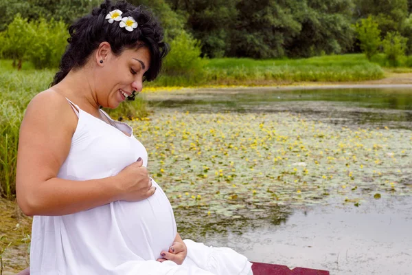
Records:
<instances>
[{"instance_id":1,"label":"bright green bush just right of the woman's hair","mask_svg":"<svg viewBox=\"0 0 412 275\"><path fill-rule=\"evenodd\" d=\"M201 45L190 34L181 32L170 43L170 53L165 58L164 72L169 76L196 77L202 72L203 62L199 57Z\"/></svg>"}]
</instances>

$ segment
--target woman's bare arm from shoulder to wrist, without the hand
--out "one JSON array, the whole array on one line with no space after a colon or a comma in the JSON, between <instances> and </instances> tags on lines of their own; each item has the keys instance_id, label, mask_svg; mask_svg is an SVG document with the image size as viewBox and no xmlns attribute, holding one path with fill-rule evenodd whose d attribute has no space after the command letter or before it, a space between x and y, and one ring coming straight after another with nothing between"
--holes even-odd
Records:
<instances>
[{"instance_id":1,"label":"woman's bare arm from shoulder to wrist, without the hand","mask_svg":"<svg viewBox=\"0 0 412 275\"><path fill-rule=\"evenodd\" d=\"M70 151L78 118L54 91L38 94L21 123L16 168L16 197L27 215L63 215L119 199L116 177L71 181L57 178Z\"/></svg>"}]
</instances>

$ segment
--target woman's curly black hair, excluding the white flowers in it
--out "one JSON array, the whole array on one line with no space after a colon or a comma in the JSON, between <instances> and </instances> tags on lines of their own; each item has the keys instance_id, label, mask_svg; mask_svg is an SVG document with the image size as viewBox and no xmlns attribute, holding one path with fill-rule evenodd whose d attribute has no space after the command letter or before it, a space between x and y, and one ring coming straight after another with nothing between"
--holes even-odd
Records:
<instances>
[{"instance_id":1,"label":"woman's curly black hair, excluding the white flowers in it","mask_svg":"<svg viewBox=\"0 0 412 275\"><path fill-rule=\"evenodd\" d=\"M133 17L137 28L129 32L119 27L119 22L108 23L106 15L113 10L121 10L122 17ZM144 74L144 80L155 80L161 70L163 58L169 52L169 45L163 42L163 28L159 21L143 5L135 7L126 1L104 1L100 8L94 8L91 14L78 19L69 27L69 45L60 61L59 71L54 76L51 86L59 83L71 69L83 67L100 43L107 41L113 54L119 55L126 49L145 45L150 51L150 67Z\"/></svg>"}]
</instances>

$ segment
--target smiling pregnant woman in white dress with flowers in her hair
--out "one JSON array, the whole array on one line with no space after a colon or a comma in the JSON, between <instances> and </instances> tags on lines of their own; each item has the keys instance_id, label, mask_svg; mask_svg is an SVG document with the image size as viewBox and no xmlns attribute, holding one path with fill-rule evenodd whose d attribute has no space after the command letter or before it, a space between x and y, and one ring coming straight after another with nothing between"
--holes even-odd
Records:
<instances>
[{"instance_id":1,"label":"smiling pregnant woman in white dress with flowers in her hair","mask_svg":"<svg viewBox=\"0 0 412 275\"><path fill-rule=\"evenodd\" d=\"M133 100L168 52L152 14L105 1L69 28L52 87L21 124L19 206L34 216L32 275L252 274L229 248L183 241L146 148L100 107Z\"/></svg>"}]
</instances>

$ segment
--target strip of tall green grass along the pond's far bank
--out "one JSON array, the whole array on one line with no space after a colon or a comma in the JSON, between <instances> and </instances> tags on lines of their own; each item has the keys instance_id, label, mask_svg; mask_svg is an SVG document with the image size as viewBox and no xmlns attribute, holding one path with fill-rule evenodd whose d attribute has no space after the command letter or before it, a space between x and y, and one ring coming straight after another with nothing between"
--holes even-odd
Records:
<instances>
[{"instance_id":1,"label":"strip of tall green grass along the pond's far bank","mask_svg":"<svg viewBox=\"0 0 412 275\"><path fill-rule=\"evenodd\" d=\"M382 68L358 54L266 61L222 58L210 61L206 68L209 79L231 80L234 83L247 81L248 78L258 81L345 82L374 80L384 76Z\"/></svg>"}]
</instances>

